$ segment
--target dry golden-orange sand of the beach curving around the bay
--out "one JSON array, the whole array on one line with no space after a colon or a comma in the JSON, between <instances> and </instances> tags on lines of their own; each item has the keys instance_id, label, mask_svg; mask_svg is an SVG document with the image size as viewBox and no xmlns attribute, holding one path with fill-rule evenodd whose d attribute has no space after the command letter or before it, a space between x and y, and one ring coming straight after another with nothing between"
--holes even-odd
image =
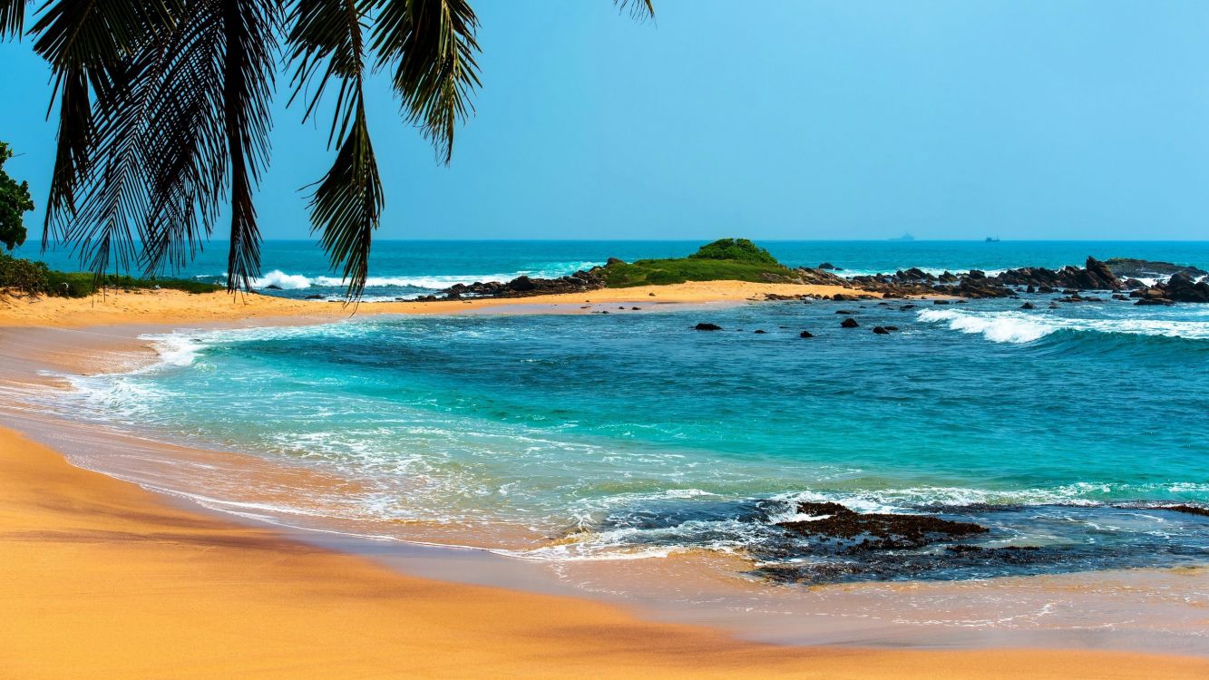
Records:
<instances>
[{"instance_id":1,"label":"dry golden-orange sand of the beach curving around the bay","mask_svg":"<svg viewBox=\"0 0 1209 680\"><path fill-rule=\"evenodd\" d=\"M710 283L504 301L366 303L358 314L608 302L706 303L811 286ZM843 289L839 289L843 290ZM655 297L649 293L655 292ZM10 382L154 355L106 325L266 325L351 308L174 291L0 302ZM25 327L21 347L5 327ZM30 342L29 327L92 333ZM103 339L98 341L97 336ZM125 337L125 339L123 339ZM417 579L69 465L0 429L0 676L5 678L1204 678L1209 659L1062 650L889 651L736 641L575 598Z\"/></svg>"}]
</instances>

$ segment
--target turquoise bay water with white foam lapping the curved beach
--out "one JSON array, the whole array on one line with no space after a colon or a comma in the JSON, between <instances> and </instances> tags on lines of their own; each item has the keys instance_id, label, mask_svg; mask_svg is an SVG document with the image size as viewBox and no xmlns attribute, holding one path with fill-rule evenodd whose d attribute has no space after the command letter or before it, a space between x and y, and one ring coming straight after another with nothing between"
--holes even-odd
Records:
<instances>
[{"instance_id":1,"label":"turquoise bay water with white foam lapping the curved beach","mask_svg":"<svg viewBox=\"0 0 1209 680\"><path fill-rule=\"evenodd\" d=\"M944 257L1068 257L962 248ZM810 261L892 257L834 249L849 258ZM1209 263L1204 245L1092 252ZM870 267L961 268L936 257ZM81 405L355 482L282 512L374 534L438 523L536 559L704 548L808 582L1209 562L1209 518L1153 507L1209 504L1209 306L907 304L637 301L178 333L160 338L162 366L83 380ZM972 521L990 531L959 542L1037 550L854 554L781 529L798 500Z\"/></svg>"}]
</instances>

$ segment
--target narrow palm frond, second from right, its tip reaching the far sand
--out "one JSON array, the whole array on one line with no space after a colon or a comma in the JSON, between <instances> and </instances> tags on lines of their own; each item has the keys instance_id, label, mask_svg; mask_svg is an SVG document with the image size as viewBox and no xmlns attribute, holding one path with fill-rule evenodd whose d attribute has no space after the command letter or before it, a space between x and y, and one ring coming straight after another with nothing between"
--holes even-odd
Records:
<instances>
[{"instance_id":1,"label":"narrow palm frond, second from right, its tip reaching the far sand","mask_svg":"<svg viewBox=\"0 0 1209 680\"><path fill-rule=\"evenodd\" d=\"M296 64L294 97L308 85L314 114L329 81L337 80L329 147L340 140L331 169L311 197L311 223L334 269L341 269L349 298L359 297L369 274L374 231L382 215L382 182L365 118L364 17L371 1L299 0L290 12L290 58Z\"/></svg>"}]
</instances>

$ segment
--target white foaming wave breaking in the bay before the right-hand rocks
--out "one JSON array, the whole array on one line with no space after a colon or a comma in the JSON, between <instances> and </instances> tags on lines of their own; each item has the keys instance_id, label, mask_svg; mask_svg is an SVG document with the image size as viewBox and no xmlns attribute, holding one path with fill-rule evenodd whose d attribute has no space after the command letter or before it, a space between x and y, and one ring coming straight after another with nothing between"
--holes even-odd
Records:
<instances>
[{"instance_id":1,"label":"white foaming wave breaking in the bay before the right-hand rocks","mask_svg":"<svg viewBox=\"0 0 1209 680\"><path fill-rule=\"evenodd\" d=\"M919 312L918 318L925 322L948 322L949 329L954 331L980 333L991 342L1006 343L1029 343L1059 331L1209 339L1209 322L1178 319L1040 318L1023 312L958 312L955 309L924 309Z\"/></svg>"}]
</instances>

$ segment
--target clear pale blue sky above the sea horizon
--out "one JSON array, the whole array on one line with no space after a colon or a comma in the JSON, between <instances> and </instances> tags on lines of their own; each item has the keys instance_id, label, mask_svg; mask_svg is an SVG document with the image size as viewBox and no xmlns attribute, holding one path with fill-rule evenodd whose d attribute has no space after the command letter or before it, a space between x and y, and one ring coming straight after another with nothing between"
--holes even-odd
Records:
<instances>
[{"instance_id":1,"label":"clear pale blue sky above the sea horizon","mask_svg":"<svg viewBox=\"0 0 1209 680\"><path fill-rule=\"evenodd\" d=\"M1203 0L474 5L485 85L452 167L382 79L370 97L384 238L1209 238ZM41 207L47 71L28 39L0 64ZM258 208L306 238L299 188L331 155L284 92Z\"/></svg>"}]
</instances>

